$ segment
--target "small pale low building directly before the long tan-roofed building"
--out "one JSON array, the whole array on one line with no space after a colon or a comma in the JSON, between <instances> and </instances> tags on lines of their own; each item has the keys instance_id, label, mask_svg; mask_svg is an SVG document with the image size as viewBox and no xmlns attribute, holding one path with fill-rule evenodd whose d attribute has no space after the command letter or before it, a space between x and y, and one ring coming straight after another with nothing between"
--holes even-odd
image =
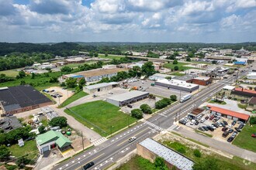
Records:
<instances>
[{"instance_id":1,"label":"small pale low building directly before the long tan-roofed building","mask_svg":"<svg viewBox=\"0 0 256 170\"><path fill-rule=\"evenodd\" d=\"M97 83L94 85L83 87L83 90L86 93L95 93L95 92L100 92L100 91L111 90L114 87L119 87L119 83L117 83L117 82Z\"/></svg>"}]
</instances>

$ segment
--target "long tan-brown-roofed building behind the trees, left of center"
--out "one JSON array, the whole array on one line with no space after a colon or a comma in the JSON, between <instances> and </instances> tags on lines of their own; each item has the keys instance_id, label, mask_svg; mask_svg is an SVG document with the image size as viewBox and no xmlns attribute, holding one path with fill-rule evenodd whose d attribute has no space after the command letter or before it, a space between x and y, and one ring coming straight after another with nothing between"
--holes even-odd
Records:
<instances>
[{"instance_id":1,"label":"long tan-brown-roofed building behind the trees, left of center","mask_svg":"<svg viewBox=\"0 0 256 170\"><path fill-rule=\"evenodd\" d=\"M112 76L116 76L118 72L120 71L126 71L122 68L115 68L115 69L94 69L94 70L88 70L88 71L82 71L78 73L72 73L62 76L62 78L65 80L69 77L77 78L78 80L81 78L85 78L86 82L92 82L92 81L99 81L102 80L104 77L111 78Z\"/></svg>"}]
</instances>

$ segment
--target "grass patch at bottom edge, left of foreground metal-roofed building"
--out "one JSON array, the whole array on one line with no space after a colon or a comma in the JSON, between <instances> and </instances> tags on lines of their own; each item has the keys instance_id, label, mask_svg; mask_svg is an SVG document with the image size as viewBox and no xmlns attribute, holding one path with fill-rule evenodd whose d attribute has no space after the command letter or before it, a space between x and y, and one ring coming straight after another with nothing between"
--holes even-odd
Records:
<instances>
[{"instance_id":1,"label":"grass patch at bottom edge, left of foreground metal-roofed building","mask_svg":"<svg viewBox=\"0 0 256 170\"><path fill-rule=\"evenodd\" d=\"M129 162L126 162L125 164L121 165L119 168L116 168L116 170L130 170L130 169L136 169L136 170L154 170L156 169L154 167L154 164L152 164L150 161L148 161L145 158L142 158L139 155L134 156L130 159Z\"/></svg>"}]
</instances>

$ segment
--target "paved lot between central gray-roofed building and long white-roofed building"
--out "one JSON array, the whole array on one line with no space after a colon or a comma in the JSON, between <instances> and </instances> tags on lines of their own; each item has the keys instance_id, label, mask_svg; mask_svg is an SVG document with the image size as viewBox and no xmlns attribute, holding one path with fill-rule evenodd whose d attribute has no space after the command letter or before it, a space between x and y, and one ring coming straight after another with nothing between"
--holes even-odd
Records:
<instances>
[{"instance_id":1,"label":"paved lot between central gray-roofed building and long white-roofed building","mask_svg":"<svg viewBox=\"0 0 256 170\"><path fill-rule=\"evenodd\" d=\"M179 96L181 94L181 97L188 94L188 92L175 90L175 89L168 89L167 87L161 87L161 86L151 86L151 83L154 83L154 81L151 80L138 80L137 82L128 83L129 87L142 87L145 89L145 91L152 93L156 96L161 97L170 97L171 95L176 95L177 99L179 100Z\"/></svg>"}]
</instances>

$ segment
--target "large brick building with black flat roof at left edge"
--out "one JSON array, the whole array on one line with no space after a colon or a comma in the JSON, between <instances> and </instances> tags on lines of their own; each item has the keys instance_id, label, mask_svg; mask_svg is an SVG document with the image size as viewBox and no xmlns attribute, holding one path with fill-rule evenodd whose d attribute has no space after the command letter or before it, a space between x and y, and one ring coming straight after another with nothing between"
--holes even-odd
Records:
<instances>
[{"instance_id":1,"label":"large brick building with black flat roof at left edge","mask_svg":"<svg viewBox=\"0 0 256 170\"><path fill-rule=\"evenodd\" d=\"M0 88L0 101L5 114L17 114L53 104L43 93L29 85Z\"/></svg>"}]
</instances>

